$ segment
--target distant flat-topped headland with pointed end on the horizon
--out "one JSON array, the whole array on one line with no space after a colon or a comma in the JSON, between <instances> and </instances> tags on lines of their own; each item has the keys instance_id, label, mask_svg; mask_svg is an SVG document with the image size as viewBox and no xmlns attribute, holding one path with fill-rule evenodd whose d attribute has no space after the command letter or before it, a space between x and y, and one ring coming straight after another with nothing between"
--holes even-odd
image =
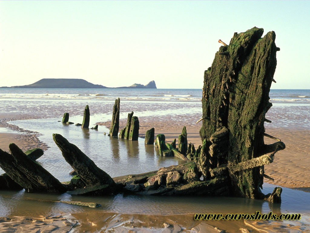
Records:
<instances>
[{"instance_id":1,"label":"distant flat-topped headland with pointed end on the horizon","mask_svg":"<svg viewBox=\"0 0 310 233\"><path fill-rule=\"evenodd\" d=\"M84 79L41 79L33 84L24 86L12 86L2 88L113 88L103 85L92 84ZM155 81L150 81L147 85L133 84L129 87L114 87L114 88L149 88L157 89Z\"/></svg>"}]
</instances>

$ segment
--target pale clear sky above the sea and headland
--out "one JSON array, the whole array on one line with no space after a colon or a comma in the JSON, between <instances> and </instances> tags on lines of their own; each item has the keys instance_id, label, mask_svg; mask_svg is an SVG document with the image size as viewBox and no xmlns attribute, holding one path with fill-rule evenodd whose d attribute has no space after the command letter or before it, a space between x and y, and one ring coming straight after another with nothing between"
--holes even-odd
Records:
<instances>
[{"instance_id":1,"label":"pale clear sky above the sea and headland","mask_svg":"<svg viewBox=\"0 0 310 233\"><path fill-rule=\"evenodd\" d=\"M275 31L272 89L310 89L310 1L0 1L0 86L203 86L221 39Z\"/></svg>"}]
</instances>

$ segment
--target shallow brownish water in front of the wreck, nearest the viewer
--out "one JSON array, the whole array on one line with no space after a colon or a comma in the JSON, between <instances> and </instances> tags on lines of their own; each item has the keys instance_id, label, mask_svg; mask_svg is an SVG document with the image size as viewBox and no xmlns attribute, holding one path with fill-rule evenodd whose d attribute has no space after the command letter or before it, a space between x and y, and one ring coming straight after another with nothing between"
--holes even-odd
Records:
<instances>
[{"instance_id":1,"label":"shallow brownish water in front of the wreck, nearest the viewer","mask_svg":"<svg viewBox=\"0 0 310 233\"><path fill-rule=\"evenodd\" d=\"M273 189L273 185L264 185L265 192L271 192ZM38 202L36 199L41 201ZM2 207L0 209L0 216L38 217L65 215L80 222L80 225L74 232L84 232L85 230L86 232L105 232L103 229L106 229L109 222L113 219L116 220L116 222L113 222L113 226L117 224L122 225L124 222L130 221L135 222L136 226L140 224L144 227L149 225L153 228L160 228L163 227L164 222L169 222L170 224L178 224L182 228L191 229L194 225L205 222L212 226L218 226L227 232L240 232L239 229L245 227L243 221L194 221L193 216L196 213L252 214L256 211L260 211L261 214L273 212L277 215L281 213L300 213L301 220L299 221L272 221L272 224L281 224L282 230L286 226L302 226L302 229L305 231L293 230L293 232L308 232L310 230L309 199L310 193L288 188L283 188L281 204L270 204L262 200L236 197L175 197L125 194L117 194L115 196L71 196L66 193L57 195L47 193L32 194L25 193L24 191L0 191L0 206ZM101 206L98 208L88 208L64 203L44 202L42 200L96 202L100 203ZM134 219L135 221L133 221ZM136 224L137 222L139 224ZM267 223L264 222L264 224ZM264 229L264 225L261 227ZM248 229L253 230L251 228ZM282 230L267 232L283 232Z\"/></svg>"}]
</instances>

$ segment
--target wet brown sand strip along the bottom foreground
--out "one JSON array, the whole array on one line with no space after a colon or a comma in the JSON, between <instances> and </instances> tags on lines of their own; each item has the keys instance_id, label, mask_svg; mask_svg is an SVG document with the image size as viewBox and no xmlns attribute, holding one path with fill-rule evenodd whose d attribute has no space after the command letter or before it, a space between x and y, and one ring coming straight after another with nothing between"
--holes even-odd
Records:
<instances>
[{"instance_id":1,"label":"wet brown sand strip along the bottom foreground","mask_svg":"<svg viewBox=\"0 0 310 233\"><path fill-rule=\"evenodd\" d=\"M74 213L59 216L0 217L2 233L11 232L118 232L118 233L258 233L309 232L296 221L195 221L193 215L138 215Z\"/></svg>"}]
</instances>

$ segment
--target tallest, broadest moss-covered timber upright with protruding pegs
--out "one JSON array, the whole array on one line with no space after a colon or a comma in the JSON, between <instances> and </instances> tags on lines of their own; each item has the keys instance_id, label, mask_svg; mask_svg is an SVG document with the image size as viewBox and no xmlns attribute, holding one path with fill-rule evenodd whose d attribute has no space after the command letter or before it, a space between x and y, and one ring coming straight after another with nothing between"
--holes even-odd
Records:
<instances>
[{"instance_id":1,"label":"tallest, broadest moss-covered timber upright with protruding pegs","mask_svg":"<svg viewBox=\"0 0 310 233\"><path fill-rule=\"evenodd\" d=\"M209 169L227 165L230 194L257 199L266 199L260 190L263 165L285 148L284 144L264 144L264 120L272 106L268 100L278 49L273 31L263 38L262 34L263 29L256 27L235 33L205 71L200 130L205 141L198 159L205 179L210 177ZM270 148L273 153L261 157L271 153ZM279 189L269 201L281 201Z\"/></svg>"}]
</instances>

